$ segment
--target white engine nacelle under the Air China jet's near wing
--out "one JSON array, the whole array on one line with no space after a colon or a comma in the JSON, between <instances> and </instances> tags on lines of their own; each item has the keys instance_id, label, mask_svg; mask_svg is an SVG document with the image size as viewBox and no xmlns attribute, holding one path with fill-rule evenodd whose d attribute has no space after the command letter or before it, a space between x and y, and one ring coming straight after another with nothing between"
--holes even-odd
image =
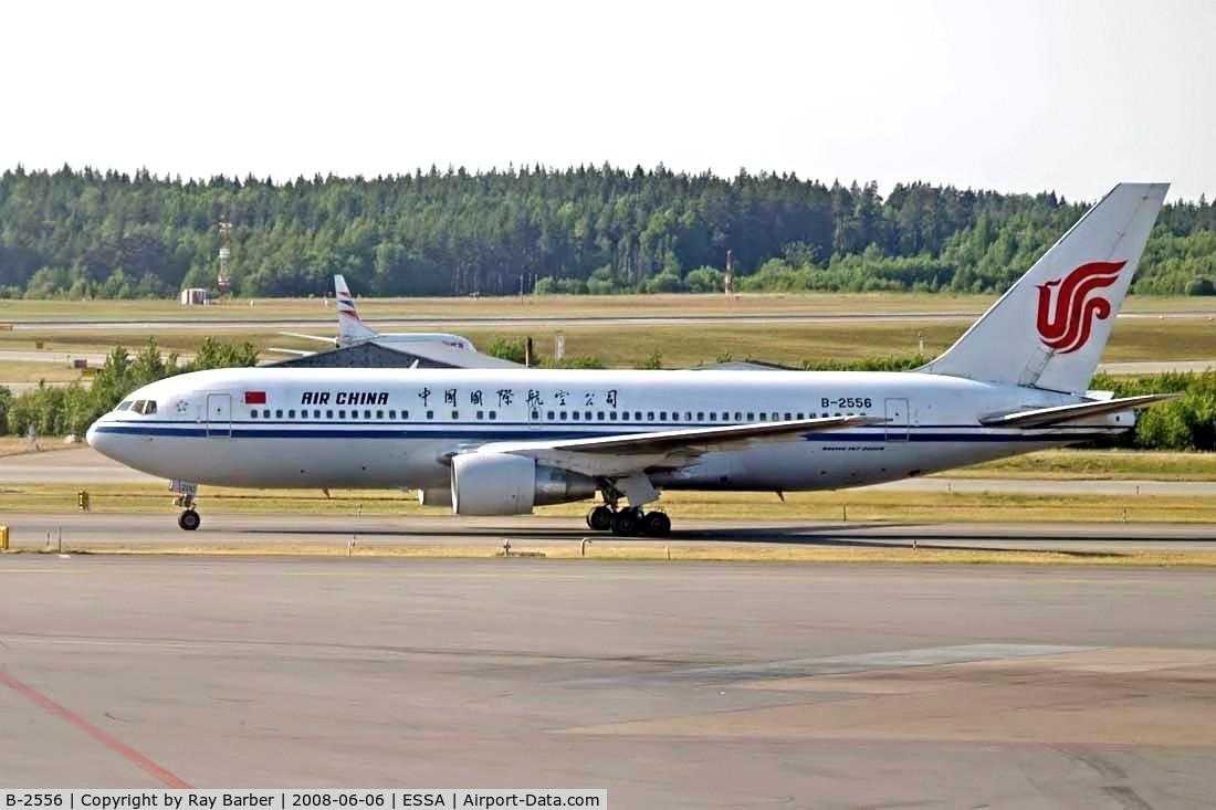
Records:
<instances>
[{"instance_id":1,"label":"white engine nacelle under the Air China jet's near wing","mask_svg":"<svg viewBox=\"0 0 1216 810\"><path fill-rule=\"evenodd\" d=\"M456 514L530 514L533 506L581 501L596 489L593 478L510 452L465 452L452 459Z\"/></svg>"}]
</instances>

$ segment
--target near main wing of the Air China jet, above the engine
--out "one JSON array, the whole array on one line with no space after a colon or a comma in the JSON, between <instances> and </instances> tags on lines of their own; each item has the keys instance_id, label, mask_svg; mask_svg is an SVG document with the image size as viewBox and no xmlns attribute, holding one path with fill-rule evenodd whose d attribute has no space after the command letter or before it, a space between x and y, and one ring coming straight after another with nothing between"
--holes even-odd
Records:
<instances>
[{"instance_id":1,"label":"near main wing of the Air China jet, above the engine","mask_svg":"<svg viewBox=\"0 0 1216 810\"><path fill-rule=\"evenodd\" d=\"M833 416L784 422L626 433L590 439L495 441L478 452L510 452L585 476L621 476L649 467L682 467L702 454L738 450L759 441L788 441L807 433L883 424L874 416Z\"/></svg>"}]
</instances>

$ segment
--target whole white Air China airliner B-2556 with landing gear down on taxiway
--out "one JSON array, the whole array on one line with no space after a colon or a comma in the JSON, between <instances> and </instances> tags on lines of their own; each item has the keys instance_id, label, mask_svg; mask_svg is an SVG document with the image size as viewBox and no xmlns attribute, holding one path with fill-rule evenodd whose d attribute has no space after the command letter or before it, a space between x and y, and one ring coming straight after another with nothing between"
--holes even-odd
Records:
<instances>
[{"instance_id":1,"label":"whole white Air China airliner B-2556 with landing gear down on taxiway","mask_svg":"<svg viewBox=\"0 0 1216 810\"><path fill-rule=\"evenodd\" d=\"M664 489L843 489L1130 429L1169 395L1087 392L1165 184L1091 208L916 371L231 369L146 386L89 444L198 484L421 490L457 514L601 494L596 530L665 535Z\"/></svg>"}]
</instances>

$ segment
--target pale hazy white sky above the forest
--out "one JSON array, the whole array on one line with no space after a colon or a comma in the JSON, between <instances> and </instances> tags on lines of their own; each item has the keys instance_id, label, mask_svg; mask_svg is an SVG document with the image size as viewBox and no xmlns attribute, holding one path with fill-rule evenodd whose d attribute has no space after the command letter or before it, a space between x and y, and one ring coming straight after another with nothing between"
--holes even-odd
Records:
<instances>
[{"instance_id":1,"label":"pale hazy white sky above the forest","mask_svg":"<svg viewBox=\"0 0 1216 810\"><path fill-rule=\"evenodd\" d=\"M1216 2L0 6L0 167L579 163L1216 193Z\"/></svg>"}]
</instances>

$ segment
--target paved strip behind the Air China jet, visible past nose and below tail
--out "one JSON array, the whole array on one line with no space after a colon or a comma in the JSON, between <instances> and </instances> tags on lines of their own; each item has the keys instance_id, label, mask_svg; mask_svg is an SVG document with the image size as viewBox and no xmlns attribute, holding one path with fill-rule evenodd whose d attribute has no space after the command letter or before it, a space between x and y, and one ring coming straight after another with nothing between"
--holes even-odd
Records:
<instances>
[{"instance_id":1,"label":"paved strip behind the Air China jet, visible past nose and below tail","mask_svg":"<svg viewBox=\"0 0 1216 810\"><path fill-rule=\"evenodd\" d=\"M91 448L58 449L0 459L0 484L153 484L164 479L112 461ZM1024 495L1173 495L1216 497L1216 482L1038 480L934 476L860 488L916 493L1013 493Z\"/></svg>"}]
</instances>

